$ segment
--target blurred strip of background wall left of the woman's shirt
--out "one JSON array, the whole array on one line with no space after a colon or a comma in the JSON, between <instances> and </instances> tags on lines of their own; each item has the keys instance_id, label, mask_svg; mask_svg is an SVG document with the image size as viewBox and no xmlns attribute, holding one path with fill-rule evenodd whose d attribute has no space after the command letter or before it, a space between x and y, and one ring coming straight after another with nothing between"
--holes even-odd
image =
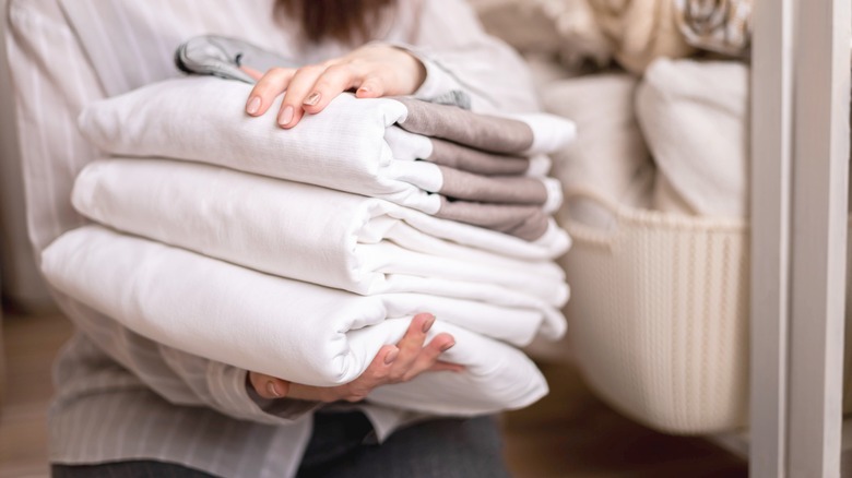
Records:
<instances>
[{"instance_id":1,"label":"blurred strip of background wall left of the woman's shirt","mask_svg":"<svg viewBox=\"0 0 852 478\"><path fill-rule=\"evenodd\" d=\"M0 290L27 311L51 307L26 235L14 103L5 57L7 3L0 0Z\"/></svg>"}]
</instances>

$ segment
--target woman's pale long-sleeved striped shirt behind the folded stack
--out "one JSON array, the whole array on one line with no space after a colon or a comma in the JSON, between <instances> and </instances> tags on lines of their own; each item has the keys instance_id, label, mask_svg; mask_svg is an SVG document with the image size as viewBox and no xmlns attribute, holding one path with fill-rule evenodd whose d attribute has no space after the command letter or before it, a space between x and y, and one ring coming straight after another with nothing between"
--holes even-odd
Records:
<instances>
[{"instance_id":1,"label":"woman's pale long-sleeved striped shirt behind the folded stack","mask_svg":"<svg viewBox=\"0 0 852 478\"><path fill-rule=\"evenodd\" d=\"M427 67L418 92L471 94L475 110L537 109L520 58L485 35L463 0L402 0L380 37ZM189 37L241 37L298 62L345 52L304 47L276 23L272 0L12 0L8 52L27 222L35 250L85 224L71 207L75 175L100 153L78 132L90 101L177 76L175 48ZM225 477L292 476L315 404L264 401L245 370L157 344L54 291L76 332L54 369L50 461L159 459ZM412 414L358 405L379 440Z\"/></svg>"}]
</instances>

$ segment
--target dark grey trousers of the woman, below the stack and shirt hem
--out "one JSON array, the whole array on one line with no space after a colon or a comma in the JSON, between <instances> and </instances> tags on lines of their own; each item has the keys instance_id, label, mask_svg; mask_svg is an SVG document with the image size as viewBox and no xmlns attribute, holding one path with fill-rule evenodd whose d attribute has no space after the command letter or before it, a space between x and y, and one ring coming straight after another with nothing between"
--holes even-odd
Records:
<instances>
[{"instance_id":1,"label":"dark grey trousers of the woman, below the stack and shirt hem","mask_svg":"<svg viewBox=\"0 0 852 478\"><path fill-rule=\"evenodd\" d=\"M55 478L211 478L171 463L130 461L100 465L54 465ZM298 478L505 478L500 431L494 417L434 419L391 434L377 444L360 411L318 413Z\"/></svg>"}]
</instances>

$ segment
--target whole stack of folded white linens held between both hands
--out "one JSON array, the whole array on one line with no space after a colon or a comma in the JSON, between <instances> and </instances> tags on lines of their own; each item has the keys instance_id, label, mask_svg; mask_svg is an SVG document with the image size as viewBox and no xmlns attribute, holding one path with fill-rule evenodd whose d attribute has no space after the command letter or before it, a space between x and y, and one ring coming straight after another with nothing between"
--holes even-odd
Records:
<instances>
[{"instance_id":1,"label":"whole stack of folded white linens held between both hands","mask_svg":"<svg viewBox=\"0 0 852 478\"><path fill-rule=\"evenodd\" d=\"M79 174L73 205L98 224L45 251L48 280L152 339L320 386L431 312L465 370L370 401L473 415L541 398L518 347L565 331L544 155L572 123L342 95L281 130L277 105L242 112L249 91L188 77L87 107L81 130L113 157Z\"/></svg>"}]
</instances>

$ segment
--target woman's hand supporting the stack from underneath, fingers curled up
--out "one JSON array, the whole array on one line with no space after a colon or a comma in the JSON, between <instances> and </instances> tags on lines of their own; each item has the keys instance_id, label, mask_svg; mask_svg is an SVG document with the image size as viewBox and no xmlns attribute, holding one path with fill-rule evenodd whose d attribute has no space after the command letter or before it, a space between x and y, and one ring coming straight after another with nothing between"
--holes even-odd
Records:
<instances>
[{"instance_id":1,"label":"woman's hand supporting the stack from underneath, fingers curled up","mask_svg":"<svg viewBox=\"0 0 852 478\"><path fill-rule=\"evenodd\" d=\"M438 334L424 345L426 333L435 316L422 313L414 316L405 335L397 345L386 345L367 370L354 381L338 386L310 386L287 382L262 373L249 372L249 382L263 398L296 398L312 402L360 402L381 385L407 382L427 371L460 372L464 367L438 360L455 345L450 334Z\"/></svg>"}]
</instances>

